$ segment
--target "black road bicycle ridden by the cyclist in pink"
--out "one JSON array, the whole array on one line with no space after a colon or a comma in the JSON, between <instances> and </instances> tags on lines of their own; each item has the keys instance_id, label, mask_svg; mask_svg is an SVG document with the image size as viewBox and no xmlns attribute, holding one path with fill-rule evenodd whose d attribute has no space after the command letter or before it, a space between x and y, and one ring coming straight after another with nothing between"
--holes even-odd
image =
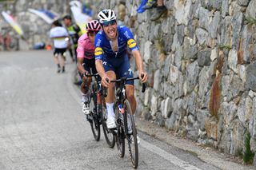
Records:
<instances>
[{"instance_id":1,"label":"black road bicycle ridden by the cyclist in pink","mask_svg":"<svg viewBox=\"0 0 256 170\"><path fill-rule=\"evenodd\" d=\"M90 127L94 135L94 139L96 141L100 140L101 136L101 125L103 129L103 133L106 139L106 143L110 146L110 148L114 148L115 140L114 134L110 132L110 130L106 126L106 104L105 99L106 97L106 88L102 87L101 79L98 73L96 74L86 74L86 77L94 77L94 81L92 81L91 90L90 90L90 97L89 97L89 104L90 101L93 101L94 104L93 109L90 109L90 113L87 115L87 121L90 122ZM86 87L86 82L84 85Z\"/></svg>"}]
</instances>

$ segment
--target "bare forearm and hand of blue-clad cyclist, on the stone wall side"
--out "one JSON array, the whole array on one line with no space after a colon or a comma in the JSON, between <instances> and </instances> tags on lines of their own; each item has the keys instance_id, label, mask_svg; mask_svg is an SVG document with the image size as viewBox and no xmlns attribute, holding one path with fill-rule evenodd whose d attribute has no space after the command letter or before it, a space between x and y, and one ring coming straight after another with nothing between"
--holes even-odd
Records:
<instances>
[{"instance_id":1,"label":"bare forearm and hand of blue-clad cyclist, on the stone wall side","mask_svg":"<svg viewBox=\"0 0 256 170\"><path fill-rule=\"evenodd\" d=\"M141 78L142 83L145 83L146 80L147 80L147 73L145 72L144 67L143 67L142 55L141 55L141 53L139 52L138 49L134 49L132 51L132 53L133 53L133 56L135 58L135 63L136 63L137 68L138 68L138 75ZM144 75L143 78L141 77L142 74Z\"/></svg>"}]
</instances>

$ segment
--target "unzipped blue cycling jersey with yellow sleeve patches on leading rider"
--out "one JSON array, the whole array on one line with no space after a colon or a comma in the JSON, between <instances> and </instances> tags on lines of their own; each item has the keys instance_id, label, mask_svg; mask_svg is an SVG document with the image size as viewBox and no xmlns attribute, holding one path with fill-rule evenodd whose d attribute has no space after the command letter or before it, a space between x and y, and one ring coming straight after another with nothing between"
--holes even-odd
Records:
<instances>
[{"instance_id":1,"label":"unzipped blue cycling jersey with yellow sleeve patches on leading rider","mask_svg":"<svg viewBox=\"0 0 256 170\"><path fill-rule=\"evenodd\" d=\"M96 35L95 46L95 59L102 60L103 55L107 57L124 57L126 56L127 45L130 51L138 49L138 45L134 41L134 36L126 26L118 26L118 51L112 50L110 40L106 38L104 31L99 31Z\"/></svg>"}]
</instances>

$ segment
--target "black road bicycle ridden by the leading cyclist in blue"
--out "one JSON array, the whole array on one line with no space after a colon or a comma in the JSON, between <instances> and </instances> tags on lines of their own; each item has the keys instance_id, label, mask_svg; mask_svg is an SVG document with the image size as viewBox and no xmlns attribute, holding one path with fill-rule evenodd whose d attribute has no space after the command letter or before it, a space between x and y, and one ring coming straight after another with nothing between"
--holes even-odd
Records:
<instances>
[{"instance_id":1,"label":"black road bicycle ridden by the leading cyclist in blue","mask_svg":"<svg viewBox=\"0 0 256 170\"><path fill-rule=\"evenodd\" d=\"M143 76L142 76L143 77ZM137 129L135 127L134 116L130 107L130 102L126 98L126 81L138 80L139 77L122 77L115 81L115 102L114 113L117 128L111 129L120 157L125 155L125 139L127 140L130 160L134 168L138 167L138 141ZM146 84L142 83L142 93L145 92Z\"/></svg>"}]
</instances>

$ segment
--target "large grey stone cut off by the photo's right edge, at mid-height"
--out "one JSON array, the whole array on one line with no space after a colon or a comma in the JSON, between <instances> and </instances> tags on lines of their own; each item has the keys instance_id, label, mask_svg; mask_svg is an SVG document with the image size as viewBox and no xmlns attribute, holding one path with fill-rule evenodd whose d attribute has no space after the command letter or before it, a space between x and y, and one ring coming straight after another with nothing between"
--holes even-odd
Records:
<instances>
[{"instance_id":1,"label":"large grey stone cut off by the photo's right edge, at mid-height","mask_svg":"<svg viewBox=\"0 0 256 170\"><path fill-rule=\"evenodd\" d=\"M246 68L246 89L256 92L256 62L251 63Z\"/></svg>"}]
</instances>

